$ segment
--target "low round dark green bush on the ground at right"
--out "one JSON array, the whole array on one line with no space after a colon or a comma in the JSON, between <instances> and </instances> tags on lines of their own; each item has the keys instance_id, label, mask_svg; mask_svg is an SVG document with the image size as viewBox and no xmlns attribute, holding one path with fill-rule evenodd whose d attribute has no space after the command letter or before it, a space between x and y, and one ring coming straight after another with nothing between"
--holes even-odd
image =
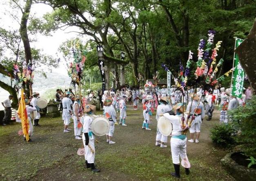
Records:
<instances>
[{"instance_id":1,"label":"low round dark green bush on the ground at right","mask_svg":"<svg viewBox=\"0 0 256 181\"><path fill-rule=\"evenodd\" d=\"M211 140L216 146L229 148L236 145L237 127L234 124L221 123L210 130Z\"/></svg>"}]
</instances>

